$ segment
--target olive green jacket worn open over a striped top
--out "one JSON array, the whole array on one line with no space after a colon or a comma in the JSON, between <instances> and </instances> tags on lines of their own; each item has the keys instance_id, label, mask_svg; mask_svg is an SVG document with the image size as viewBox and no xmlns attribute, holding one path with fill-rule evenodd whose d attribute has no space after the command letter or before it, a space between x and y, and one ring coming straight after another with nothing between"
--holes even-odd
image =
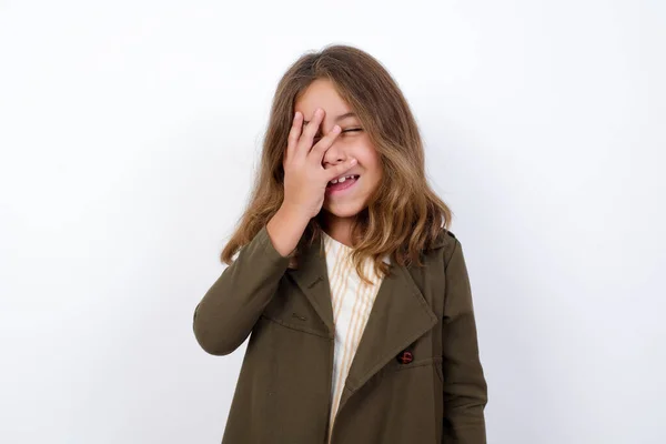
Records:
<instances>
[{"instance_id":1,"label":"olive green jacket worn open over a striped top","mask_svg":"<svg viewBox=\"0 0 666 444\"><path fill-rule=\"evenodd\" d=\"M265 226L194 310L203 350L226 355L252 333L223 444L323 444L334 350L325 255L297 270ZM444 234L425 266L382 282L346 380L331 444L484 444L486 381L460 241ZM410 352L412 361L396 359ZM407 360L408 361L408 360Z\"/></svg>"}]
</instances>

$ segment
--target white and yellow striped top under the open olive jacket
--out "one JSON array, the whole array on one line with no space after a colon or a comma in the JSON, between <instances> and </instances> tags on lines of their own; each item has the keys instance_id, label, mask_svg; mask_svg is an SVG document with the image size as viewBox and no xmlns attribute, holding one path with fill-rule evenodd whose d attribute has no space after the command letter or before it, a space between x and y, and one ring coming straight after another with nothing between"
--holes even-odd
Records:
<instances>
[{"instance_id":1,"label":"white and yellow striped top under the open olive jacket","mask_svg":"<svg viewBox=\"0 0 666 444\"><path fill-rule=\"evenodd\" d=\"M329 283L331 285L333 321L335 323L330 440L352 360L361 342L382 280L375 275L374 263L369 259L363 263L363 273L372 281L372 284L367 285L361 281L350 256L352 248L334 240L325 232L322 232L322 234L326 252ZM390 263L387 259L384 261Z\"/></svg>"}]
</instances>

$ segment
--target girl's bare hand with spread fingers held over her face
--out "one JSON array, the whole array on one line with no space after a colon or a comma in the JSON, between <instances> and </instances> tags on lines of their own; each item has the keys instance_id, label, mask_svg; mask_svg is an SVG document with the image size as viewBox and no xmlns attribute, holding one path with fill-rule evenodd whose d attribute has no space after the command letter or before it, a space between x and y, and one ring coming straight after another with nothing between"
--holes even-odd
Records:
<instances>
[{"instance_id":1,"label":"girl's bare hand with spread fingers held over her face","mask_svg":"<svg viewBox=\"0 0 666 444\"><path fill-rule=\"evenodd\" d=\"M289 132L286 152L282 163L284 167L283 206L302 211L309 220L321 211L326 184L356 164L356 159L350 159L327 169L322 167L326 150L331 148L341 131L339 125L333 127L331 132L313 147L314 135L324 120L324 110L317 109L301 133L303 115L296 112Z\"/></svg>"}]
</instances>

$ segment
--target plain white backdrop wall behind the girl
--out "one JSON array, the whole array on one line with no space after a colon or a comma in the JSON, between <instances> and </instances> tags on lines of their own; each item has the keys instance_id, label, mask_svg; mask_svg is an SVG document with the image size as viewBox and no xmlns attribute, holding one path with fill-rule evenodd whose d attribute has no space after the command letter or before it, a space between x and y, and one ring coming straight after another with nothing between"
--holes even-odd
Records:
<instances>
[{"instance_id":1,"label":"plain white backdrop wall behind the girl","mask_svg":"<svg viewBox=\"0 0 666 444\"><path fill-rule=\"evenodd\" d=\"M0 442L218 443L195 304L278 80L403 89L467 260L488 442L666 442L666 3L0 1ZM260 425L258 425L260 426Z\"/></svg>"}]
</instances>

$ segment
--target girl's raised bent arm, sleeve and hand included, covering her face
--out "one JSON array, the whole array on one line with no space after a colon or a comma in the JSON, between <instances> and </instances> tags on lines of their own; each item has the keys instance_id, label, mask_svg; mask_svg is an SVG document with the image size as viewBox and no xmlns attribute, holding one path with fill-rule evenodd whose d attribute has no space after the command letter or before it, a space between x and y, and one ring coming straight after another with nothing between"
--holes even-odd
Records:
<instances>
[{"instance_id":1,"label":"girl's raised bent arm, sleeve and hand included, covering her face","mask_svg":"<svg viewBox=\"0 0 666 444\"><path fill-rule=\"evenodd\" d=\"M241 249L194 310L194 335L210 354L229 354L245 341L278 290L290 263L289 253L320 213L326 184L356 164L356 159L350 158L323 168L323 155L341 131L334 127L313 145L324 114L317 109L302 130L303 114L295 113L282 161L284 200L280 210Z\"/></svg>"}]
</instances>

